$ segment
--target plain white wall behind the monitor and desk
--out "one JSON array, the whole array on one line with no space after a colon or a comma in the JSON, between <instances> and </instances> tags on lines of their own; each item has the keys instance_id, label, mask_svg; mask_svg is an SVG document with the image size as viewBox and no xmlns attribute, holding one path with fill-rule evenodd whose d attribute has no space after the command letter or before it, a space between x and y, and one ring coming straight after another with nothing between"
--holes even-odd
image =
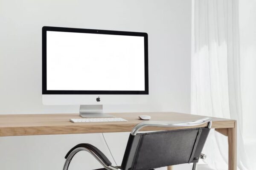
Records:
<instances>
[{"instance_id":1,"label":"plain white wall behind the monitor and desk","mask_svg":"<svg viewBox=\"0 0 256 170\"><path fill-rule=\"evenodd\" d=\"M42 105L42 26L147 32L150 102L107 105L105 111L190 111L190 0L0 0L0 26L0 114L79 111ZM118 164L127 137L106 134ZM80 142L95 144L111 159L102 134L0 137L0 169L61 169L64 154ZM71 170L100 167L85 153L74 162Z\"/></svg>"}]
</instances>

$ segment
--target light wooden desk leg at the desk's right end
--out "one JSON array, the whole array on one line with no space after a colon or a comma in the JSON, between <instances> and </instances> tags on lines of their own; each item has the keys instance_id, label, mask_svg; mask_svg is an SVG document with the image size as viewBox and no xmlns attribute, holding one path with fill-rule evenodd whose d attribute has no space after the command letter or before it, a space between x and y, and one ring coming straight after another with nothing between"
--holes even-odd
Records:
<instances>
[{"instance_id":1,"label":"light wooden desk leg at the desk's right end","mask_svg":"<svg viewBox=\"0 0 256 170\"><path fill-rule=\"evenodd\" d=\"M228 170L236 170L237 167L237 127L227 129L228 140Z\"/></svg>"}]
</instances>

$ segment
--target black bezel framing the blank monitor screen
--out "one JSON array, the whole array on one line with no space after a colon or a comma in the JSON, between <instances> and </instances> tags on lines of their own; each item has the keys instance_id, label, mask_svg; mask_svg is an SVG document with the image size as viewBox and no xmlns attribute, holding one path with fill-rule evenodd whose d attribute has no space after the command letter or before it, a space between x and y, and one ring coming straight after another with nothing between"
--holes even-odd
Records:
<instances>
[{"instance_id":1,"label":"black bezel framing the blank monitor screen","mask_svg":"<svg viewBox=\"0 0 256 170\"><path fill-rule=\"evenodd\" d=\"M145 91L63 91L47 90L47 31L111 34L144 37ZM148 94L148 34L142 32L109 31L99 29L64 28L44 26L42 28L42 94Z\"/></svg>"}]
</instances>

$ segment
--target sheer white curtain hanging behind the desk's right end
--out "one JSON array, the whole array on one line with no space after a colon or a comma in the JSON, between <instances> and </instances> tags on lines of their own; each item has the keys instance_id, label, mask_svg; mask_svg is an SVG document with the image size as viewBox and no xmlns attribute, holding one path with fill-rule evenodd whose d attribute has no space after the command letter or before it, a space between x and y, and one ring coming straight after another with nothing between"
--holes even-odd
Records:
<instances>
[{"instance_id":1,"label":"sheer white curtain hanging behind the desk's right end","mask_svg":"<svg viewBox=\"0 0 256 170\"><path fill-rule=\"evenodd\" d=\"M194 0L191 112L238 122L238 168L253 170L244 151L238 0ZM211 131L207 164L227 170L227 137Z\"/></svg>"}]
</instances>

